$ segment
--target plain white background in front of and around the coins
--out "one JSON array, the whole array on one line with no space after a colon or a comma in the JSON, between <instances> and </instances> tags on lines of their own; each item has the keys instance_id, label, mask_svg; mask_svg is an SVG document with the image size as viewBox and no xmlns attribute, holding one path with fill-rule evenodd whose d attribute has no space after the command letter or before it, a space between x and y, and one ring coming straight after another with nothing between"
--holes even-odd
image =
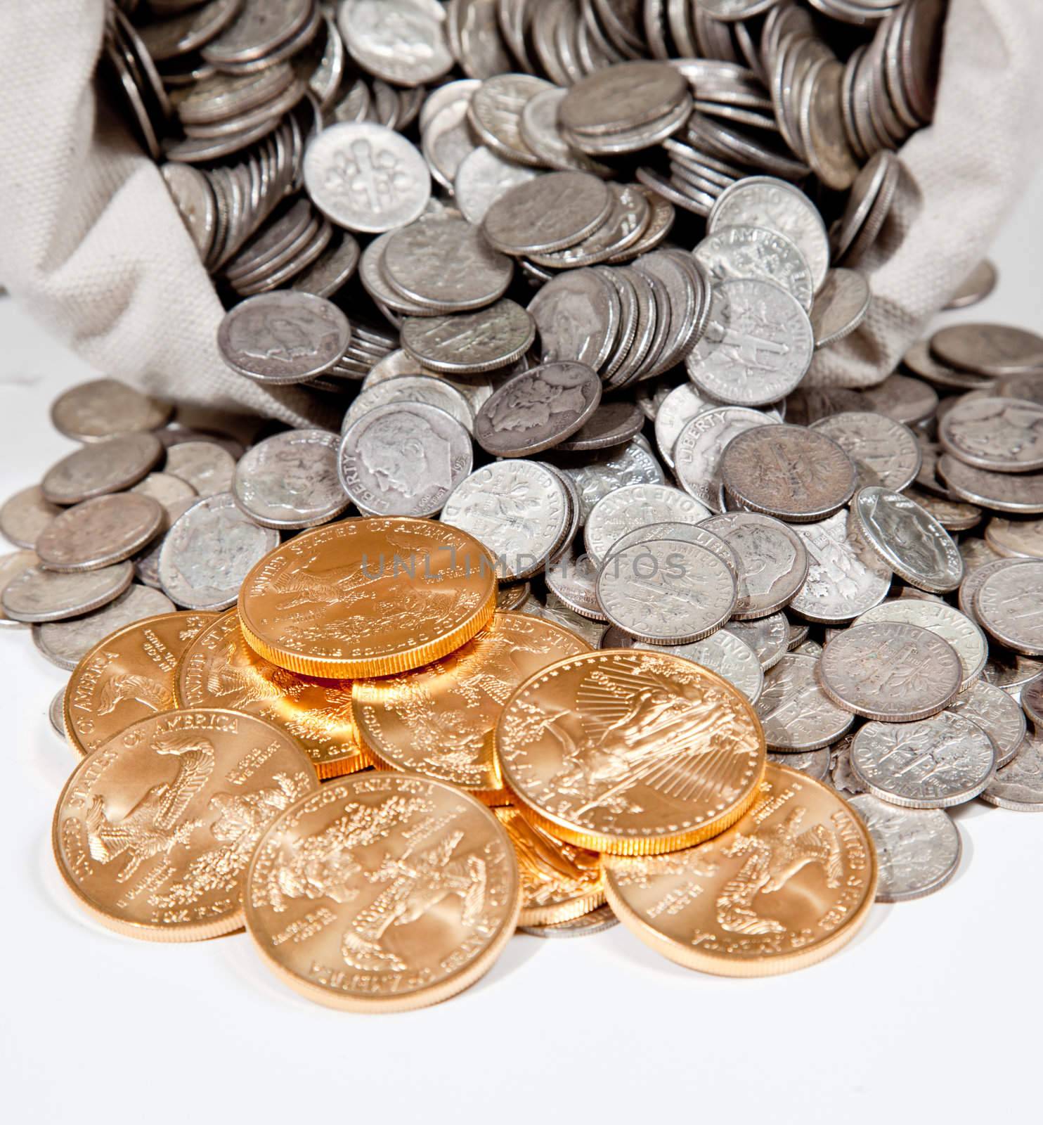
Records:
<instances>
[{"instance_id":1,"label":"plain white background in front of and around the coins","mask_svg":"<svg viewBox=\"0 0 1043 1125\"><path fill-rule=\"evenodd\" d=\"M1043 176L958 318L1043 331ZM178 310L171 309L176 316ZM72 448L51 400L91 377L0 300L0 498ZM474 988L393 1016L300 999L245 934L123 938L81 914L51 855L73 752L47 705L65 673L0 632L2 1104L80 1125L260 1120L949 1122L1039 1113L1043 816L956 811L963 863L938 894L877 906L838 955L769 980L705 976L622 926L515 937Z\"/></svg>"}]
</instances>

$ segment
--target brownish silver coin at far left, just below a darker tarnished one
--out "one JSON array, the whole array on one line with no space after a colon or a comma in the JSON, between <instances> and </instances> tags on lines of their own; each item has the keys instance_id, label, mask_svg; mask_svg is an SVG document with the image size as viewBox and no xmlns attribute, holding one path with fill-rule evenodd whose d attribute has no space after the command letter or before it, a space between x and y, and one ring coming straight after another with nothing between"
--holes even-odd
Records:
<instances>
[{"instance_id":1,"label":"brownish silver coin at far left, just below a darker tarnished one","mask_svg":"<svg viewBox=\"0 0 1043 1125\"><path fill-rule=\"evenodd\" d=\"M47 570L100 570L140 550L165 519L151 496L96 496L56 515L40 533L36 554Z\"/></svg>"}]
</instances>

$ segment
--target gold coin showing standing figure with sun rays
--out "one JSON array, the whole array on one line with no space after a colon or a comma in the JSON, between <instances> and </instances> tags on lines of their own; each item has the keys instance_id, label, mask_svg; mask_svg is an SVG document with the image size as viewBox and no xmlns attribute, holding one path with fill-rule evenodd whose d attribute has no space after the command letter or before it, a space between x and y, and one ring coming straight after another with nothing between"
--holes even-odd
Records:
<instances>
[{"instance_id":1,"label":"gold coin showing standing figure with sun rays","mask_svg":"<svg viewBox=\"0 0 1043 1125\"><path fill-rule=\"evenodd\" d=\"M522 811L595 852L653 855L733 825L764 772L745 695L670 652L601 649L538 672L496 729Z\"/></svg>"}]
</instances>

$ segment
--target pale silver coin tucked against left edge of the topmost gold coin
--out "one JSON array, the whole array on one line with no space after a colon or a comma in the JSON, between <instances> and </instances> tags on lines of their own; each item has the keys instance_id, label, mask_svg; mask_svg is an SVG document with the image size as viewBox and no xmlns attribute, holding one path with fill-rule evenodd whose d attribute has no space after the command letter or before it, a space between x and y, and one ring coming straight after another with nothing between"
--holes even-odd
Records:
<instances>
[{"instance_id":1,"label":"pale silver coin tucked against left edge of the topmost gold coin","mask_svg":"<svg viewBox=\"0 0 1043 1125\"><path fill-rule=\"evenodd\" d=\"M235 605L251 567L279 546L279 532L241 511L232 493L193 504L166 533L160 552L163 593L188 610Z\"/></svg>"}]
</instances>

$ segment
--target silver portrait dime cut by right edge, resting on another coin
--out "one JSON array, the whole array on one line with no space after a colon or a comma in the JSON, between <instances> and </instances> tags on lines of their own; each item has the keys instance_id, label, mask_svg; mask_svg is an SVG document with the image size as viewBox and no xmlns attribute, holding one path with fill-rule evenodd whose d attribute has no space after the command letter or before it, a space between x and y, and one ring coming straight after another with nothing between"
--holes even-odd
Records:
<instances>
[{"instance_id":1,"label":"silver portrait dime cut by right edge, resting on another coin","mask_svg":"<svg viewBox=\"0 0 1043 1125\"><path fill-rule=\"evenodd\" d=\"M961 398L938 423L938 441L981 469L1043 469L1043 406L1019 398Z\"/></svg>"}]
</instances>

